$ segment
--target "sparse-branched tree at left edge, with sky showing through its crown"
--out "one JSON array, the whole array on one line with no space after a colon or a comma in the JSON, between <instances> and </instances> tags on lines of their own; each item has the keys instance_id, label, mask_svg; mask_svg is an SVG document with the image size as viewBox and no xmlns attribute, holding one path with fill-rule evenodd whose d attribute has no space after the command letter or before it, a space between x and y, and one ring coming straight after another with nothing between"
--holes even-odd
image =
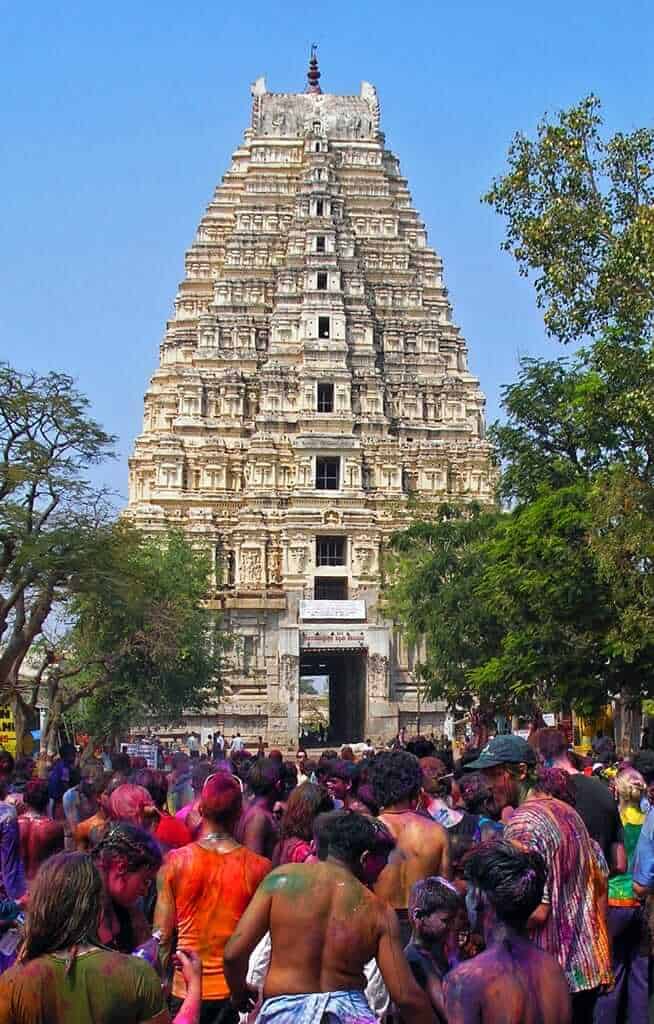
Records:
<instances>
[{"instance_id":1,"label":"sparse-branched tree at left edge, with sky showing through its crown","mask_svg":"<svg viewBox=\"0 0 654 1024\"><path fill-rule=\"evenodd\" d=\"M0 699L13 707L18 738L36 705L34 686L20 684L26 657L96 575L113 513L85 473L112 457L114 440L70 377L0 365ZM48 657L39 655L37 685Z\"/></svg>"}]
</instances>

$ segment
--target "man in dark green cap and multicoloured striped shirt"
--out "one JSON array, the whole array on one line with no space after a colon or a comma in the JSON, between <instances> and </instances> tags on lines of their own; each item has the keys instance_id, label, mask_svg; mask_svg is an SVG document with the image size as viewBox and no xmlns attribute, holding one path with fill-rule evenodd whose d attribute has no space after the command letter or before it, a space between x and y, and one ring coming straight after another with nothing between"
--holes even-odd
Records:
<instances>
[{"instance_id":1,"label":"man in dark green cap and multicoloured striped shirt","mask_svg":"<svg viewBox=\"0 0 654 1024\"><path fill-rule=\"evenodd\" d=\"M563 968L575 1024L592 1024L597 998L613 981L602 852L576 811L539 790L535 752L521 736L495 736L466 768L483 773L498 812L515 808L505 839L544 858L548 880L527 923L530 937Z\"/></svg>"}]
</instances>

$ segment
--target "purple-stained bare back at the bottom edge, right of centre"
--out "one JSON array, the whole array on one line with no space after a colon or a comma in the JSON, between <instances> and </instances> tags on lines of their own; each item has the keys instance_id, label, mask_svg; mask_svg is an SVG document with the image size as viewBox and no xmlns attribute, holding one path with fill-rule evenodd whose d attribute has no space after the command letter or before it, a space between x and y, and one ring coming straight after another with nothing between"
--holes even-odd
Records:
<instances>
[{"instance_id":1,"label":"purple-stained bare back at the bottom edge, right of centre","mask_svg":"<svg viewBox=\"0 0 654 1024\"><path fill-rule=\"evenodd\" d=\"M444 982L448 1024L569 1024L570 996L554 956L526 938L493 945Z\"/></svg>"}]
</instances>

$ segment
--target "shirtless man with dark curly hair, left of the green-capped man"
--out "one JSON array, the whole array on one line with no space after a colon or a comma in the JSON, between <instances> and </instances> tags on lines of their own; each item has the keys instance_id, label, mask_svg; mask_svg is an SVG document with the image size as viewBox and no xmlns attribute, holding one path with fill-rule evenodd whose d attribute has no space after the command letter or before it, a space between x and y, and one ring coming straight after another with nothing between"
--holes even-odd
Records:
<instances>
[{"instance_id":1,"label":"shirtless man with dark curly hair, left of the green-capped man","mask_svg":"<svg viewBox=\"0 0 654 1024\"><path fill-rule=\"evenodd\" d=\"M450 878L449 838L442 825L417 811L423 786L418 758L406 751L378 754L372 774L375 800L382 808L380 821L395 840L395 849L375 892L397 911L405 946L411 937L408 919L411 886L433 876Z\"/></svg>"}]
</instances>

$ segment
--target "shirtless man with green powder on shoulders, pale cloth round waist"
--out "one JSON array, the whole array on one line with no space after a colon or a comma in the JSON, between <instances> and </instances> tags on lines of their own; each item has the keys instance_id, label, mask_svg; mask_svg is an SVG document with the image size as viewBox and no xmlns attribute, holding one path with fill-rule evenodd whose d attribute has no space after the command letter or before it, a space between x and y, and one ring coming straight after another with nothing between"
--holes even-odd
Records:
<instances>
[{"instance_id":1,"label":"shirtless man with green powder on shoulders, pale cloth round waist","mask_svg":"<svg viewBox=\"0 0 654 1024\"><path fill-rule=\"evenodd\" d=\"M334 813L322 840L326 859L272 871L236 926L224 959L232 1001L245 1008L254 995L246 983L249 957L270 931L258 1024L276 1020L280 1011L285 1021L329 1016L376 1024L363 996L363 966L373 957L404 1018L434 1024L429 1000L402 955L395 914L356 877L375 841L370 821L355 812Z\"/></svg>"}]
</instances>

